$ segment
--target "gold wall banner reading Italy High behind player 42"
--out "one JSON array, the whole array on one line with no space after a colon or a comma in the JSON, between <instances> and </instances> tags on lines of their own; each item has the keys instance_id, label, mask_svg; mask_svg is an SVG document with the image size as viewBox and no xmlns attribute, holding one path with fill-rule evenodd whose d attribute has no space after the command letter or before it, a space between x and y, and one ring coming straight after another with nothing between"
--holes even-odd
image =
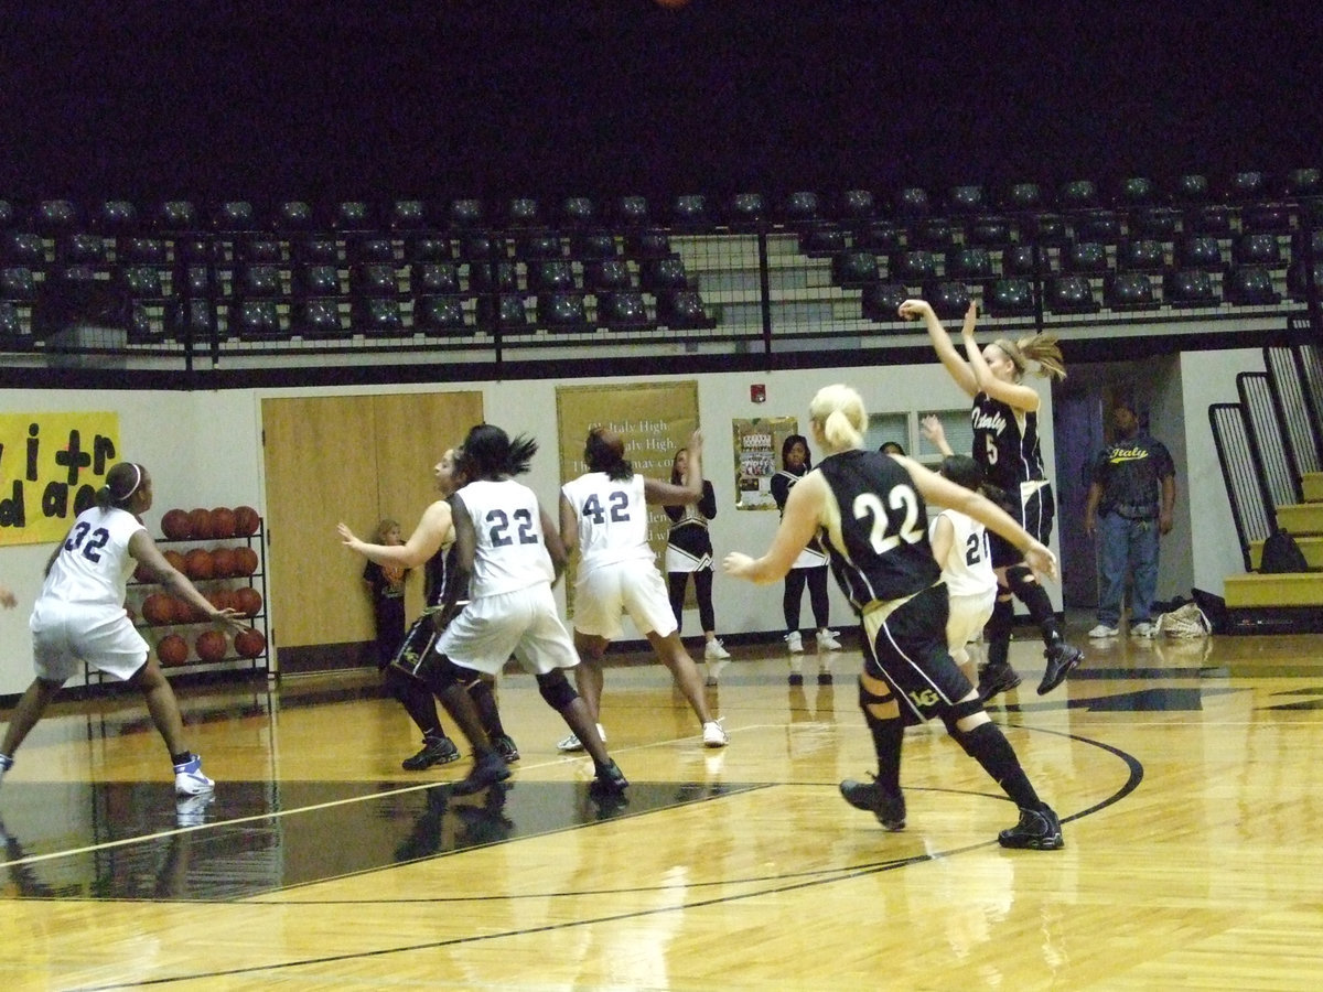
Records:
<instances>
[{"instance_id":1,"label":"gold wall banner reading Italy High behind player 42","mask_svg":"<svg viewBox=\"0 0 1323 992\"><path fill-rule=\"evenodd\" d=\"M587 471L583 440L593 427L609 427L624 439L624 456L634 471L654 479L671 479L675 452L685 446L699 426L699 384L622 382L610 386L557 386L556 419L561 448L561 481ZM717 492L721 500L721 492ZM554 518L557 511L548 509ZM660 507L648 508L648 542L662 561L671 520ZM573 563L572 563L573 567ZM573 595L574 577L566 577L566 597Z\"/></svg>"}]
</instances>

